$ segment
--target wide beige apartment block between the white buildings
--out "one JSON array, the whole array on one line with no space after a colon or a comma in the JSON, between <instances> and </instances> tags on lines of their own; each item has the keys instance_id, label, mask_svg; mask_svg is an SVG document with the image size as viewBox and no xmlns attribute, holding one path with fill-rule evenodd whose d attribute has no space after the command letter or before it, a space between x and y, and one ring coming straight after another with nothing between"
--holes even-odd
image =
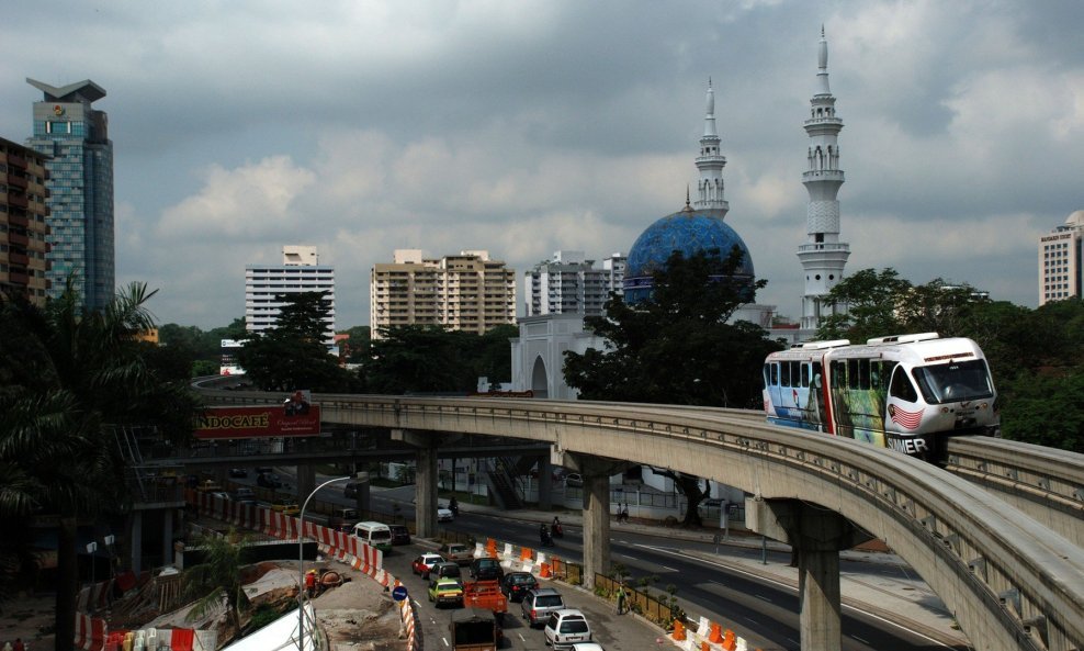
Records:
<instances>
[{"instance_id":1,"label":"wide beige apartment block between the white buildings","mask_svg":"<svg viewBox=\"0 0 1084 651\"><path fill-rule=\"evenodd\" d=\"M393 262L373 266L369 293L372 337L405 325L440 325L483 334L516 323L516 271L489 251L426 258L396 249Z\"/></svg>"}]
</instances>

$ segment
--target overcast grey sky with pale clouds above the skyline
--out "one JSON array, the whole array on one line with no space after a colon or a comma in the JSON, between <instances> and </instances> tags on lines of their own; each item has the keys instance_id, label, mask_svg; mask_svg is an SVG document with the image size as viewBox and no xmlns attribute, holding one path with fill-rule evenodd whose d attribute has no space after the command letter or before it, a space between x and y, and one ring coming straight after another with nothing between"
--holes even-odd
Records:
<instances>
[{"instance_id":1,"label":"overcast grey sky with pale clouds above the skyline","mask_svg":"<svg viewBox=\"0 0 1084 651\"><path fill-rule=\"evenodd\" d=\"M893 267L1035 306L1037 237L1084 207L1084 2L8 0L0 137L41 91L109 93L116 280L162 323L245 311L285 244L369 323L396 248L628 254L696 183L708 78L761 303L799 317L821 25L848 272ZM522 303L522 296L519 298Z\"/></svg>"}]
</instances>

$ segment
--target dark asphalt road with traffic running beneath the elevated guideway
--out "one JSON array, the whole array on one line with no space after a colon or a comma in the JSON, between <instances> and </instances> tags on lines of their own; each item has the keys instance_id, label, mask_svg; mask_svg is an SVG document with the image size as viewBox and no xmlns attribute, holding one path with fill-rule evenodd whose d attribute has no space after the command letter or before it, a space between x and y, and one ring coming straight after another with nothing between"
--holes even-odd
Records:
<instances>
[{"instance_id":1,"label":"dark asphalt road with traffic running beneath the elevated guideway","mask_svg":"<svg viewBox=\"0 0 1084 651\"><path fill-rule=\"evenodd\" d=\"M392 510L396 504L406 517L411 517L414 489L406 486L388 491L374 491L372 500L376 508ZM341 490L329 487L319 495L320 500L349 502L341 496ZM483 513L461 512L453 524L441 524L450 530L470 534L479 539L496 538L501 542L538 547L538 523L520 521L508 517L495 517ZM565 526L565 537L558 539L555 548L546 551L555 553L572 562L581 562L583 538L581 530ZM418 602L422 617L424 632L428 639L447 639L448 615L429 604L425 597L425 582L411 574L410 560L431 547L410 546L396 548L396 551L385 557L385 566L396 576L413 577L408 582L413 597ZM800 651L799 643L799 599L797 591L788 584L765 580L763 576L743 571L739 566L727 563L729 559L737 555L755 554L759 550L732 548L723 546L715 553L712 545L692 541L675 541L660 536L652 536L619 528L611 529L611 563L620 563L632 576L630 584L639 585L639 580L648 577L648 586L656 594L676 586L679 604L690 617L708 617L711 621L723 622L732 628L739 637L745 638L749 649L764 651ZM768 563L787 564L789 554L768 552ZM876 572L899 572L899 569L865 563L847 563L842 561L840 571L851 574L868 574ZM871 579L876 576L871 575ZM571 586L561 588L569 597L579 595L575 607L581 607L588 615L589 621L596 627L596 639L607 649L620 651L625 649L643 649L643 631L630 631L632 639L616 636L622 632L624 621L621 618L614 622L614 614L601 599L577 591ZM519 613L518 604L510 604L509 611ZM531 631L521 620L506 618L508 639L512 649L544 649L541 631ZM620 625L620 626L617 626ZM646 625L644 625L646 626ZM893 649L901 651L944 651L953 649L939 641L912 630L906 621L891 621L869 613L844 607L843 611L843 650L844 651L878 651ZM532 635L534 633L534 635ZM652 640L654 641L654 640ZM634 644L634 646L626 646ZM639 646L635 646L639 644ZM437 648L426 644L427 649ZM959 647L963 651L966 647Z\"/></svg>"}]
</instances>

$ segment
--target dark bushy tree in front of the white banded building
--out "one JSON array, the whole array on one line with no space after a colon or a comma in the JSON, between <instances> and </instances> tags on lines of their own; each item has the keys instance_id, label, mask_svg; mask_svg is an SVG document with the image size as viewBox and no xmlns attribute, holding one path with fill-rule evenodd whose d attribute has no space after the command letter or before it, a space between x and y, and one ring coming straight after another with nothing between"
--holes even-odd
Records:
<instances>
[{"instance_id":1,"label":"dark bushy tree in front of the white banded building","mask_svg":"<svg viewBox=\"0 0 1084 651\"><path fill-rule=\"evenodd\" d=\"M324 344L324 324L330 310L324 293L302 292L279 299L284 305L276 327L250 338L237 353L252 384L263 391L357 391L355 377L339 367Z\"/></svg>"}]
</instances>

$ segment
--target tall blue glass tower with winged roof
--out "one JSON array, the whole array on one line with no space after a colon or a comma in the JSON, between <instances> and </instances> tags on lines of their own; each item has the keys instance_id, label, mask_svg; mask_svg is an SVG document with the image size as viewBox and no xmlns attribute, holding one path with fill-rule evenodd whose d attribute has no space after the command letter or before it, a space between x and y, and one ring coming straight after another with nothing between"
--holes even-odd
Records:
<instances>
[{"instance_id":1,"label":"tall blue glass tower with winged roof","mask_svg":"<svg viewBox=\"0 0 1084 651\"><path fill-rule=\"evenodd\" d=\"M91 108L105 90L87 79L57 88L26 82L45 93L34 102L34 135L26 144L48 157L49 295L70 276L89 310L113 299L113 143L109 116Z\"/></svg>"}]
</instances>

